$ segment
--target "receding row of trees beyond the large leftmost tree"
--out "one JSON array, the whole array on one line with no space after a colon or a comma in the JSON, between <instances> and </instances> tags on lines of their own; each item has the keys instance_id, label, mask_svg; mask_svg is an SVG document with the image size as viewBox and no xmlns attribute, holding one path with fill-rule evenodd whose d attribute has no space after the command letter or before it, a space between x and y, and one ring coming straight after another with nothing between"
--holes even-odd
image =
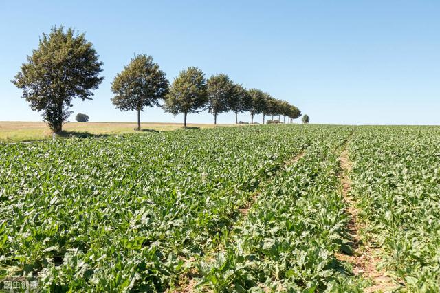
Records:
<instances>
[{"instance_id":1,"label":"receding row of trees beyond the large leftmost tree","mask_svg":"<svg viewBox=\"0 0 440 293\"><path fill-rule=\"evenodd\" d=\"M277 100L259 89L245 89L236 84L226 74L208 78L201 69L188 67L170 85L165 73L153 62L151 56L137 55L131 59L111 85L115 96L111 99L115 107L122 111L137 111L137 129L140 129L140 112L145 107L159 106L173 115L184 114L184 126L188 113L208 110L214 116L233 111L235 123L238 113L249 111L251 121L256 114L265 116L298 118L299 109L288 102ZM160 101L164 104L161 105Z\"/></svg>"}]
</instances>

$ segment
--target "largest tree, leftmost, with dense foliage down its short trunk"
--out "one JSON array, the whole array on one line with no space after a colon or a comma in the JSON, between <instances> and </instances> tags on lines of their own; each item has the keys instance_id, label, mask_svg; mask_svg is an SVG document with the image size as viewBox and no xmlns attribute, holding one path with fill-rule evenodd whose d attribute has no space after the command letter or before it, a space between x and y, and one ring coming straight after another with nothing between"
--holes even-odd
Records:
<instances>
[{"instance_id":1,"label":"largest tree, leftmost, with dense foliage down its short trunk","mask_svg":"<svg viewBox=\"0 0 440 293\"><path fill-rule=\"evenodd\" d=\"M85 34L73 28L52 28L43 34L38 49L28 56L28 63L12 83L23 89L23 98L32 110L43 112L43 121L52 131L63 130L63 122L72 113L72 100L91 100L92 90L104 79L100 77L102 62Z\"/></svg>"}]
</instances>

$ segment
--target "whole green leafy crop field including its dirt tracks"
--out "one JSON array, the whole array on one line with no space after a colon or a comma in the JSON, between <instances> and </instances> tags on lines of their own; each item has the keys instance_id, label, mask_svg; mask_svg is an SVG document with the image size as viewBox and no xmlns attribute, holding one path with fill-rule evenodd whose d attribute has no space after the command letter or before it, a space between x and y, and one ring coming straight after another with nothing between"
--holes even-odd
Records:
<instances>
[{"instance_id":1,"label":"whole green leafy crop field including its dirt tracks","mask_svg":"<svg viewBox=\"0 0 440 293\"><path fill-rule=\"evenodd\" d=\"M0 274L58 292L437 292L439 155L437 127L0 144Z\"/></svg>"}]
</instances>

